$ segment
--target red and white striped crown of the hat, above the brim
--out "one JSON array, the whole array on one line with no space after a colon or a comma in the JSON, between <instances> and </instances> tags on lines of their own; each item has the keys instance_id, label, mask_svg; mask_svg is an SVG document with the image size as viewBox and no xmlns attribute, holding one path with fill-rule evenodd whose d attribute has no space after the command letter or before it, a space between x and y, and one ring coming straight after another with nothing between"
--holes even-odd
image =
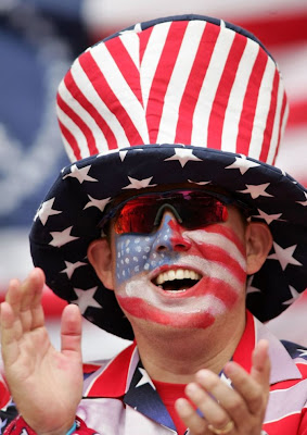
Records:
<instances>
[{"instance_id":1,"label":"red and white striped crown of the hat, above the brim","mask_svg":"<svg viewBox=\"0 0 307 435\"><path fill-rule=\"evenodd\" d=\"M60 85L57 115L72 161L166 142L273 164L287 104L253 35L192 15L137 24L85 51Z\"/></svg>"}]
</instances>

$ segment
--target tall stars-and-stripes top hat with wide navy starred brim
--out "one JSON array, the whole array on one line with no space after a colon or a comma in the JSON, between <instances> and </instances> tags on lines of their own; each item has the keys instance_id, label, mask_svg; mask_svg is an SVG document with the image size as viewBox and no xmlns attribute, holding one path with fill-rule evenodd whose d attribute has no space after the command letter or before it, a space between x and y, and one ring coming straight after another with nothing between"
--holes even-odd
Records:
<instances>
[{"instance_id":1,"label":"tall stars-and-stripes top hat with wide navy starred brim","mask_svg":"<svg viewBox=\"0 0 307 435\"><path fill-rule=\"evenodd\" d=\"M36 265L62 298L131 338L87 259L112 199L127 190L219 186L253 207L273 247L248 278L247 307L277 316L306 288L306 189L273 166L287 116L278 66L246 30L200 15L137 24L86 50L59 87L72 160L30 234Z\"/></svg>"}]
</instances>

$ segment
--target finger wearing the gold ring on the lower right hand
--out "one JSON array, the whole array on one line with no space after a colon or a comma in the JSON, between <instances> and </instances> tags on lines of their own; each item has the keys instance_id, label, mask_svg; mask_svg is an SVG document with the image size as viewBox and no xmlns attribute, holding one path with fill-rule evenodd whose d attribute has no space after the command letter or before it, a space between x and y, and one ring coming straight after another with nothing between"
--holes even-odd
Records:
<instances>
[{"instance_id":1,"label":"finger wearing the gold ring on the lower right hand","mask_svg":"<svg viewBox=\"0 0 307 435\"><path fill-rule=\"evenodd\" d=\"M199 384L188 384L186 387L186 394L202 412L206 421L213 424L215 427L222 428L231 420L231 417L228 414L228 412Z\"/></svg>"}]
</instances>

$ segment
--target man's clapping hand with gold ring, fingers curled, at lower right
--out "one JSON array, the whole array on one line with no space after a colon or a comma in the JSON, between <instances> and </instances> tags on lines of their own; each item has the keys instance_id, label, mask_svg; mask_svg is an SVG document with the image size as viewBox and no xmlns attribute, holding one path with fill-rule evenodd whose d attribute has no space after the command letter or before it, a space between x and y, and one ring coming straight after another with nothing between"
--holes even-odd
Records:
<instances>
[{"instance_id":1,"label":"man's clapping hand with gold ring, fingers curled, at lower right","mask_svg":"<svg viewBox=\"0 0 307 435\"><path fill-rule=\"evenodd\" d=\"M233 361L225 365L223 372L232 388L212 371L200 370L195 382L186 388L195 407L187 399L178 399L179 417L191 435L260 435L269 398L268 343L260 340L257 344L251 374Z\"/></svg>"}]
</instances>

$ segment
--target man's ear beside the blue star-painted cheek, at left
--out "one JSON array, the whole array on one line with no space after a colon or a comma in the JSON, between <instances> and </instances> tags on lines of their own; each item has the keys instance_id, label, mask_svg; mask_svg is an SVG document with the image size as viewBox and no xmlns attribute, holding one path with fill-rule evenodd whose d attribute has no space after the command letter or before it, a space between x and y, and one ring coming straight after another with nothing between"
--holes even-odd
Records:
<instances>
[{"instance_id":1,"label":"man's ear beside the blue star-painted cheek, at left","mask_svg":"<svg viewBox=\"0 0 307 435\"><path fill-rule=\"evenodd\" d=\"M99 238L89 245L88 259L104 287L113 290L112 251L106 238Z\"/></svg>"}]
</instances>

